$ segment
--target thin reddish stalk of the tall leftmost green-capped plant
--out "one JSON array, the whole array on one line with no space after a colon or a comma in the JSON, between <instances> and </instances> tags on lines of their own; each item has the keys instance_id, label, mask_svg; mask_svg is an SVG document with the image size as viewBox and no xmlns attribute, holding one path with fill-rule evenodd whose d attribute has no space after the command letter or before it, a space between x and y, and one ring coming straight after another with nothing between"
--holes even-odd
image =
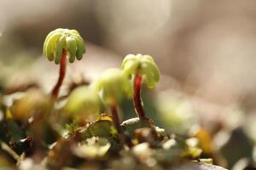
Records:
<instances>
[{"instance_id":1,"label":"thin reddish stalk of the tall leftmost green-capped plant","mask_svg":"<svg viewBox=\"0 0 256 170\"><path fill-rule=\"evenodd\" d=\"M51 92L51 96L54 99L58 98L59 91L60 91L60 88L61 88L61 84L64 80L65 75L66 75L66 58L67 58L67 51L65 49L63 49L62 50L62 56L61 56L59 79L58 79L58 82L55 85L55 88Z\"/></svg>"}]
</instances>

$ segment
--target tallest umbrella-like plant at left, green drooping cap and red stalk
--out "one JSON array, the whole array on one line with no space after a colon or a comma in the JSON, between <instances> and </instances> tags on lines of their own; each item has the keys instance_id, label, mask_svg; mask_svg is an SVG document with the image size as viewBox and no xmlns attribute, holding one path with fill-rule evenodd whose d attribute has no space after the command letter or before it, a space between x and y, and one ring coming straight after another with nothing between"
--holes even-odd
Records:
<instances>
[{"instance_id":1,"label":"tallest umbrella-like plant at left, green drooping cap and red stalk","mask_svg":"<svg viewBox=\"0 0 256 170\"><path fill-rule=\"evenodd\" d=\"M84 40L79 31L58 28L49 32L44 40L44 55L49 61L55 60L55 64L60 64L60 75L51 95L54 99L58 97L61 84L66 74L66 60L73 63L75 59L82 59L85 53Z\"/></svg>"}]
</instances>

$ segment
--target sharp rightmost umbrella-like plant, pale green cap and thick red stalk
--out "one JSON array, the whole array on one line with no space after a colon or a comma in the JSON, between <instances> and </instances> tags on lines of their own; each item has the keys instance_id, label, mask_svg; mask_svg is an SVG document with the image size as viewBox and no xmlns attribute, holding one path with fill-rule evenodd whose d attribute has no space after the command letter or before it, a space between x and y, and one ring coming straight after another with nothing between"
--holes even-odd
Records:
<instances>
[{"instance_id":1,"label":"sharp rightmost umbrella-like plant, pale green cap and thick red stalk","mask_svg":"<svg viewBox=\"0 0 256 170\"><path fill-rule=\"evenodd\" d=\"M160 81L160 71L150 55L129 54L125 56L122 68L126 77L133 81L133 104L137 116L145 119L143 110L143 101L141 99L141 87L145 79L148 88L154 88L155 84Z\"/></svg>"}]
</instances>

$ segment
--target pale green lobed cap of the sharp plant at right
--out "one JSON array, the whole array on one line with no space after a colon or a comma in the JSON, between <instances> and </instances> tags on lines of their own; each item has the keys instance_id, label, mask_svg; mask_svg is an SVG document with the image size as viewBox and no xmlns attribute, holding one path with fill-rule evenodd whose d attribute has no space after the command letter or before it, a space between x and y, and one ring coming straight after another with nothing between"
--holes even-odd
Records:
<instances>
[{"instance_id":1,"label":"pale green lobed cap of the sharp plant at right","mask_svg":"<svg viewBox=\"0 0 256 170\"><path fill-rule=\"evenodd\" d=\"M150 55L128 54L122 63L125 75L141 75L145 78L148 88L154 88L160 81L160 70Z\"/></svg>"}]
</instances>

